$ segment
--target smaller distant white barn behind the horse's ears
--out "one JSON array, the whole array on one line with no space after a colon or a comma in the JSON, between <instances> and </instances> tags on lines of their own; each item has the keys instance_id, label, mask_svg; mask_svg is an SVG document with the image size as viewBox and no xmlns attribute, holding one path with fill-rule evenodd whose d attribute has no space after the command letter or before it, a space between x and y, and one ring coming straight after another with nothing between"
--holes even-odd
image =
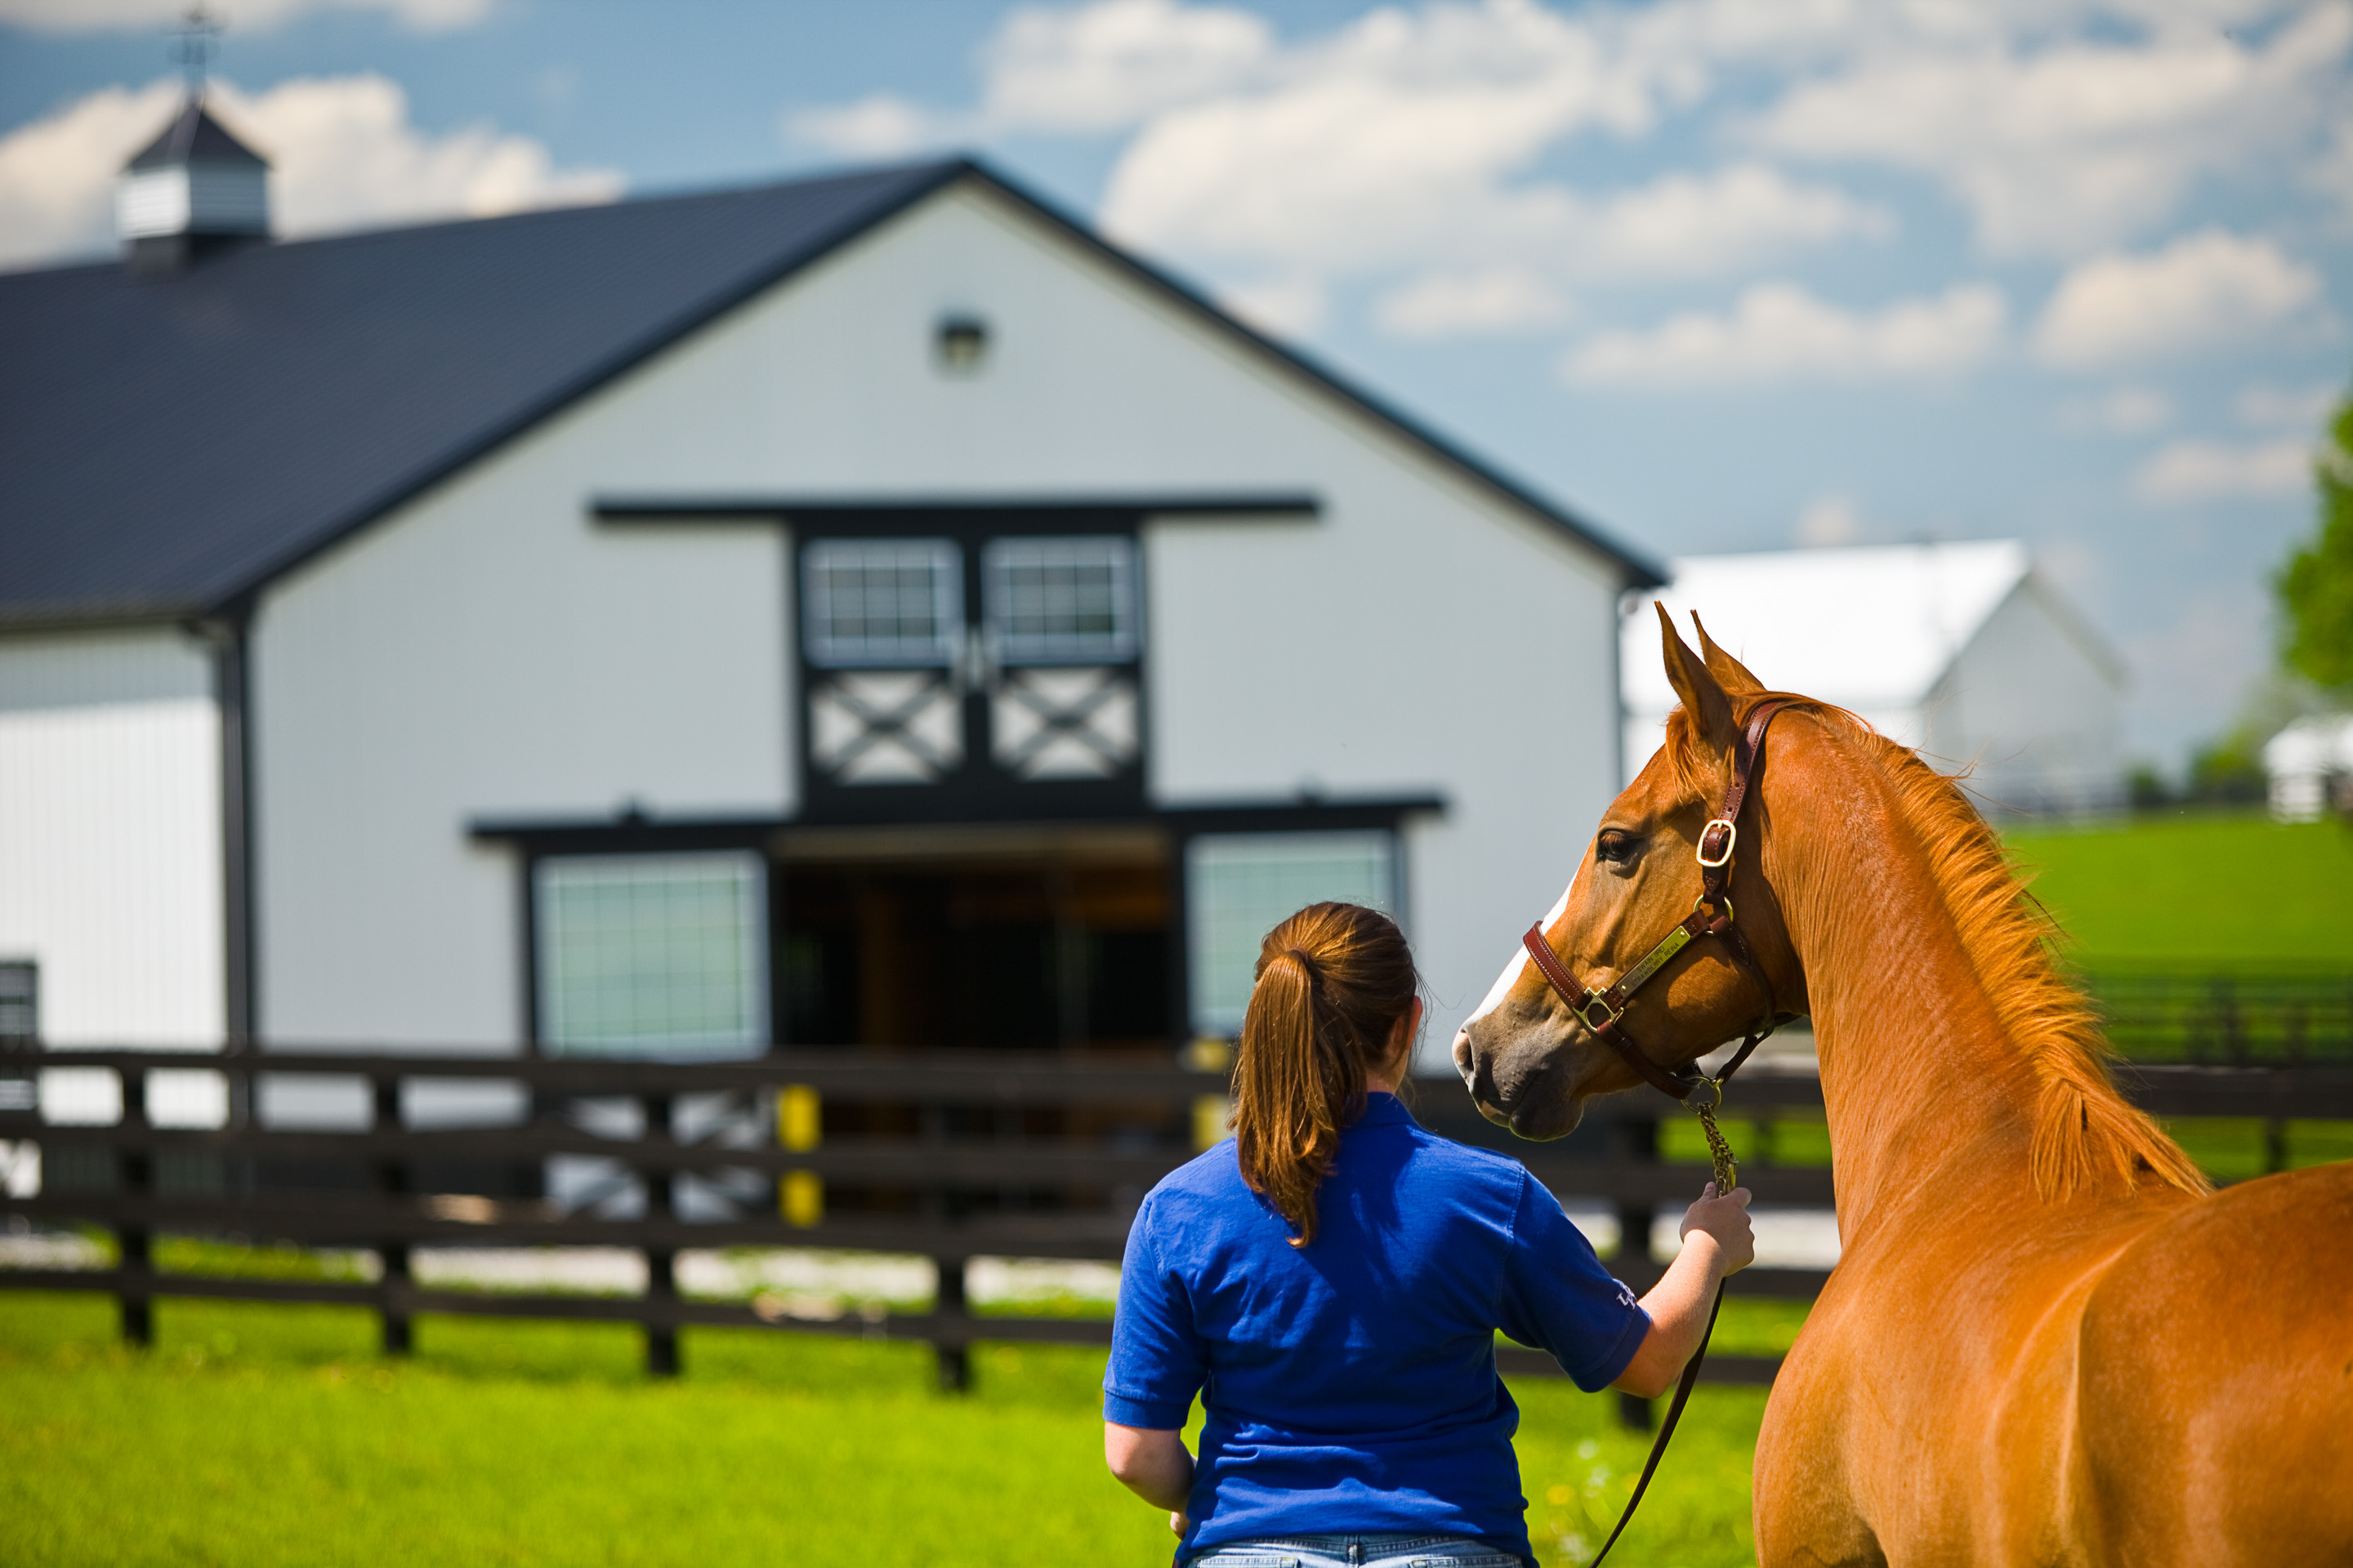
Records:
<instances>
[{"instance_id":1,"label":"smaller distant white barn behind the horse's ears","mask_svg":"<svg viewBox=\"0 0 2353 1568\"><path fill-rule=\"evenodd\" d=\"M1838 703L1981 802L2082 816L2125 797L2125 665L2014 538L1697 555L1624 625L1626 778L1675 705L1652 599L1758 679Z\"/></svg>"}]
</instances>

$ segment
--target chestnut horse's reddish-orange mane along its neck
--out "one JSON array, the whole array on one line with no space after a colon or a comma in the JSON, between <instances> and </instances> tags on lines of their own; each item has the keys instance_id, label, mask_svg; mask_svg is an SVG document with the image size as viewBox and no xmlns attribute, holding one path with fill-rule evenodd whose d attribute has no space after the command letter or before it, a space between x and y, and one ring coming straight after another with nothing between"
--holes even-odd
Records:
<instances>
[{"instance_id":1,"label":"chestnut horse's reddish-orange mane along its neck","mask_svg":"<svg viewBox=\"0 0 2353 1568\"><path fill-rule=\"evenodd\" d=\"M1849 729L1887 778L1897 811L1944 891L1946 912L2002 1034L2033 1072L2028 1166L2035 1192L2061 1199L2099 1178L2129 1190L2144 1171L2184 1192L2212 1192L2191 1157L2115 1091L2108 1077L2115 1051L2099 1016L2052 961L2059 924L2026 889L2002 842L1960 785L1845 708L1781 691L1744 691L1732 703L1746 722L1748 710L1765 698ZM1718 759L1692 745L1689 717L1680 708L1668 717L1666 752L1675 783L1711 799L1720 788L1720 778L1711 776L1720 771Z\"/></svg>"}]
</instances>

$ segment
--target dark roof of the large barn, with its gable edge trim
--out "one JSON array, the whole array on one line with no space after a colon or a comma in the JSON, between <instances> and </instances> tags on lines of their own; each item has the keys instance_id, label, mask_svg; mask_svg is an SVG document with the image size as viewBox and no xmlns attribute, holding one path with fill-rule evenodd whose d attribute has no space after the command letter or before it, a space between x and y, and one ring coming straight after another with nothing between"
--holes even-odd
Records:
<instances>
[{"instance_id":1,"label":"dark roof of the large barn, with its gable edge trim","mask_svg":"<svg viewBox=\"0 0 2353 1568\"><path fill-rule=\"evenodd\" d=\"M1471 477L1645 559L965 160L0 275L0 623L191 618L958 179L981 179Z\"/></svg>"}]
</instances>

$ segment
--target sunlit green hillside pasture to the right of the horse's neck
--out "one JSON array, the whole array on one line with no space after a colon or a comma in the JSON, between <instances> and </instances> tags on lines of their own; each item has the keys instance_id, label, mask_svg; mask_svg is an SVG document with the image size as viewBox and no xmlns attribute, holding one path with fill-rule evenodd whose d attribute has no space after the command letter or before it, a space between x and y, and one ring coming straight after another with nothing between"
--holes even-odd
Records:
<instances>
[{"instance_id":1,"label":"sunlit green hillside pasture to the right of the horse's neck","mask_svg":"<svg viewBox=\"0 0 2353 1568\"><path fill-rule=\"evenodd\" d=\"M2007 842L2085 969L2353 961L2353 832L2339 823L2174 811Z\"/></svg>"}]
</instances>

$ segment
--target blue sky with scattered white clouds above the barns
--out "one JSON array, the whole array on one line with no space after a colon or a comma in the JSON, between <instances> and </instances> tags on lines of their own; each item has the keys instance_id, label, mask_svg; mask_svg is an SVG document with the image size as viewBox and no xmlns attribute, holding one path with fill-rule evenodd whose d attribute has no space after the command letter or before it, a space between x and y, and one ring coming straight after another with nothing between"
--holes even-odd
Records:
<instances>
[{"instance_id":1,"label":"blue sky with scattered white clouds above the barns","mask_svg":"<svg viewBox=\"0 0 2353 1568\"><path fill-rule=\"evenodd\" d=\"M0 0L0 266L174 9ZM976 148L1654 555L2026 538L2169 764L2353 381L2353 0L221 9L287 233Z\"/></svg>"}]
</instances>

